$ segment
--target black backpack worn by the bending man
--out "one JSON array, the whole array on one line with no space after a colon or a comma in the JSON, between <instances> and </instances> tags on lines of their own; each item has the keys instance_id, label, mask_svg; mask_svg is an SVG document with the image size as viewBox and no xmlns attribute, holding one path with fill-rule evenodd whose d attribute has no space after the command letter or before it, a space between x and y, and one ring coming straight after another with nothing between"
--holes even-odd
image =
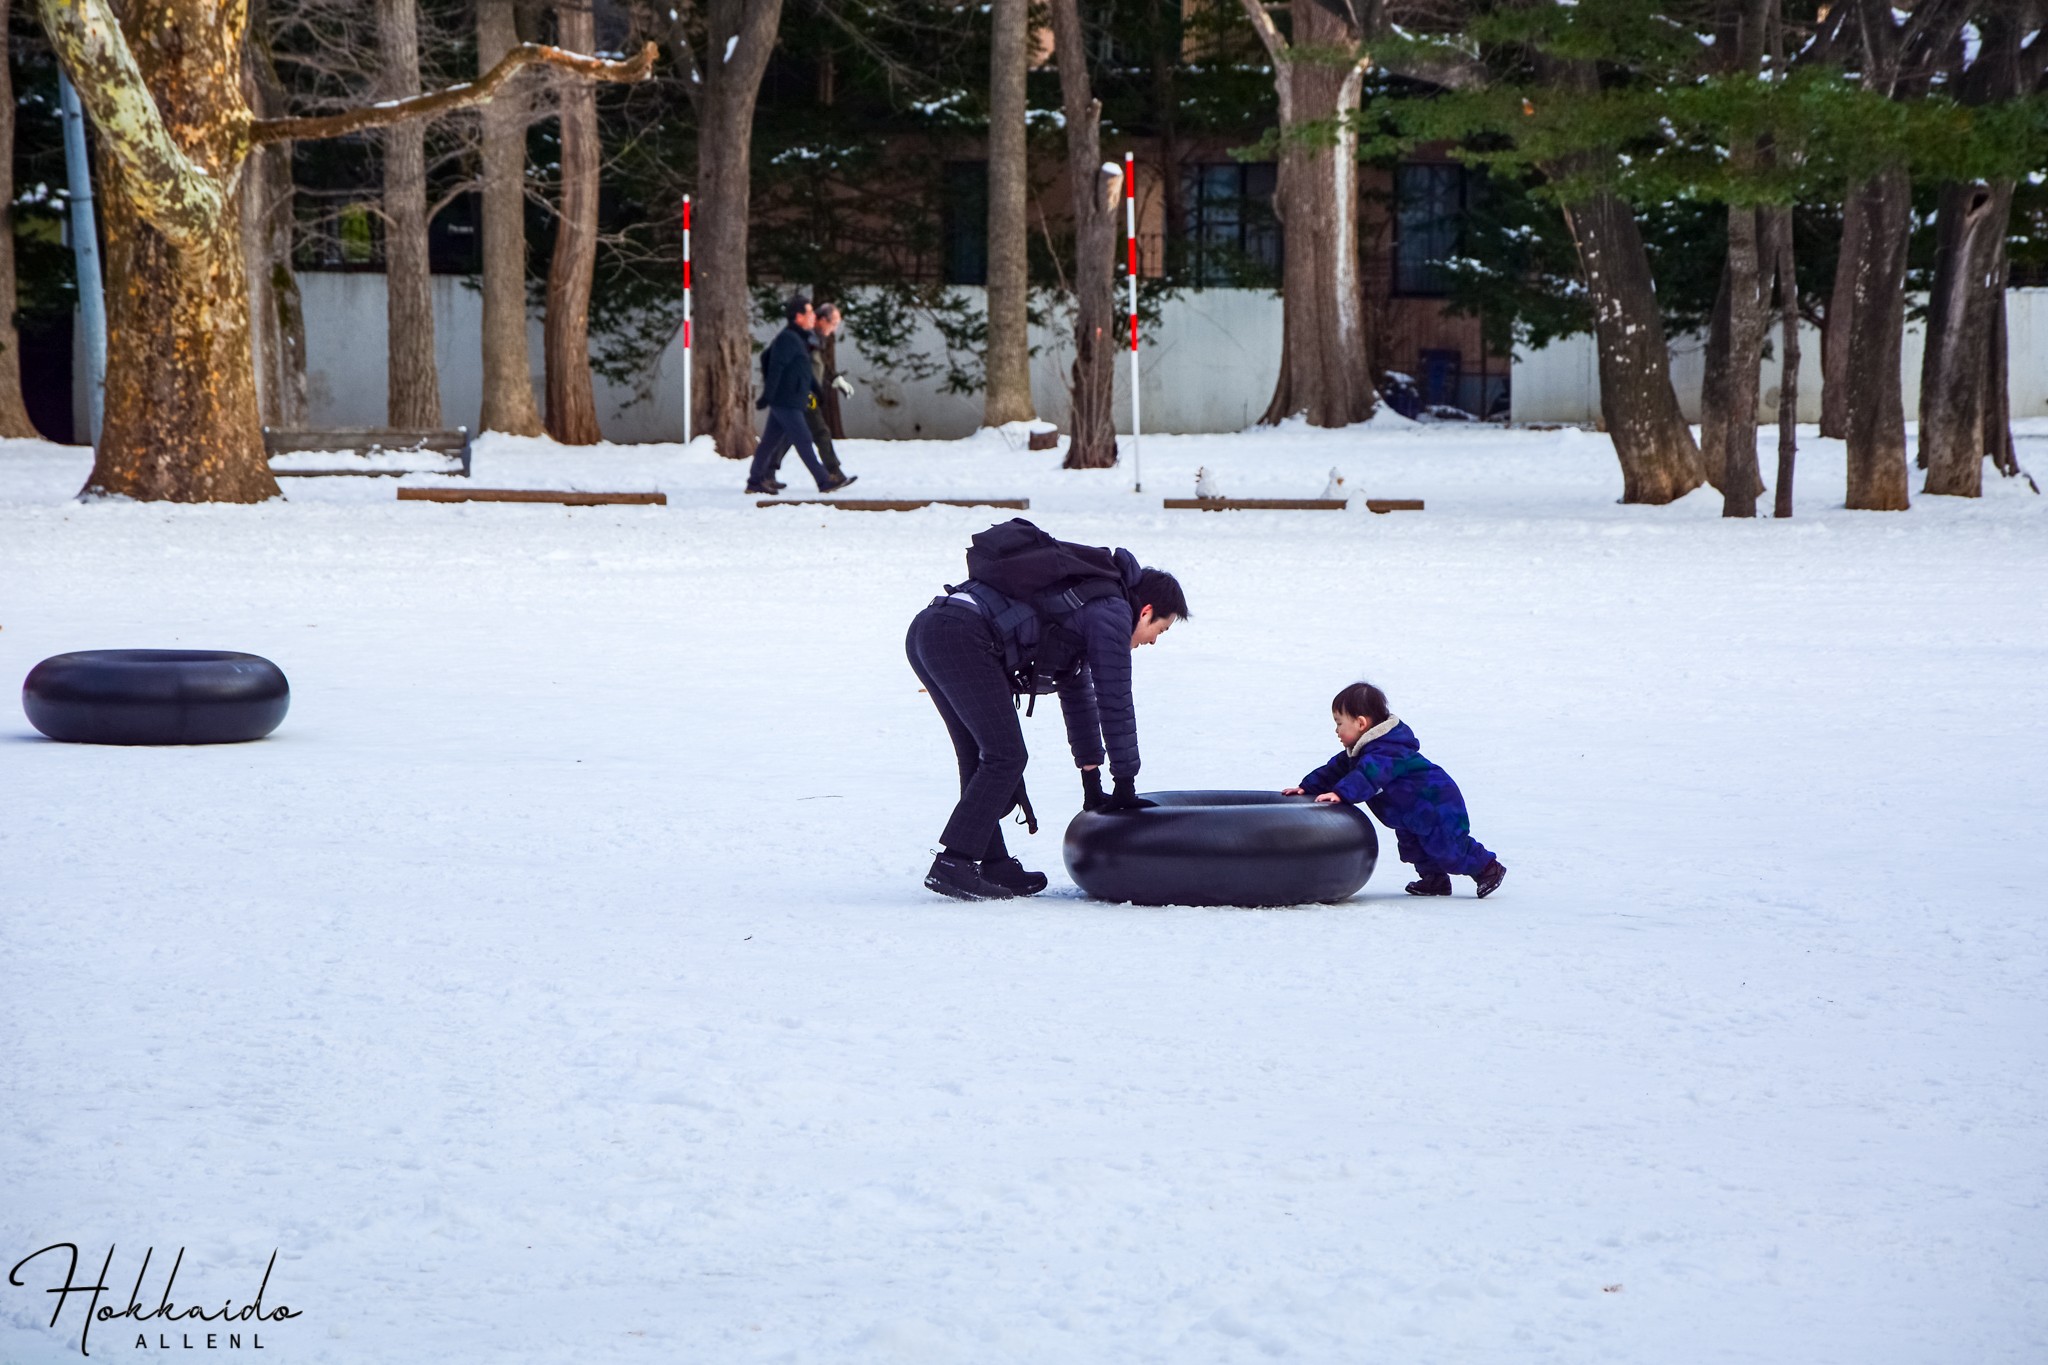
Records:
<instances>
[{"instance_id":1,"label":"black backpack worn by the bending man","mask_svg":"<svg viewBox=\"0 0 2048 1365\"><path fill-rule=\"evenodd\" d=\"M1004 645L1010 694L1055 692L1079 667L1087 645L1067 622L1098 598L1126 598L1139 581L1130 551L1055 540L1024 518L989 526L967 546L965 591L995 626ZM1036 702L1034 702L1036 704ZM1030 710L1026 710L1030 714Z\"/></svg>"}]
</instances>

